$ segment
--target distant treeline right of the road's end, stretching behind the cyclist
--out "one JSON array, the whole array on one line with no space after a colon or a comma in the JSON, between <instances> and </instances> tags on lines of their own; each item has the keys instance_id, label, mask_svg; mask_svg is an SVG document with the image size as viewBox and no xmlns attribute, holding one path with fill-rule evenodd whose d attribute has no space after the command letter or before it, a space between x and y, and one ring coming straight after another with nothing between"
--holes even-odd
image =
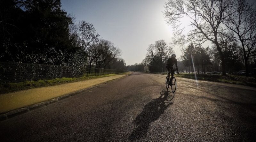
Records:
<instances>
[{"instance_id":1,"label":"distant treeline right of the road's end, stretching behind the cyclist","mask_svg":"<svg viewBox=\"0 0 256 142\"><path fill-rule=\"evenodd\" d=\"M234 71L245 70L243 51L238 48L238 44L236 41L228 41L227 37L222 37L220 39L221 49L225 55L225 62L227 64L226 69L228 73L232 73ZM158 42L158 41L156 41ZM163 44L166 46L166 44ZM166 59L170 57L174 51L171 47L168 47L169 50L163 50L163 48L157 48L158 45L151 44L148 47L148 53L140 64L129 65L129 67L135 71L147 71L150 72L164 72L167 71L165 68ZM165 47L166 49L167 46ZM161 49L161 50L158 50ZM161 56L159 51L164 51L165 60L160 60ZM183 47L181 49L182 55L177 57L178 60L178 69L179 71L190 71L194 72L193 63L195 67L195 71L222 71L221 69L221 58L216 49L216 47L202 47L201 45L194 45L190 43L187 47ZM167 54L171 53L171 54ZM256 68L256 56L251 56L249 58L249 66L250 73L253 72L253 68ZM127 66L128 67L128 66Z\"/></svg>"}]
</instances>

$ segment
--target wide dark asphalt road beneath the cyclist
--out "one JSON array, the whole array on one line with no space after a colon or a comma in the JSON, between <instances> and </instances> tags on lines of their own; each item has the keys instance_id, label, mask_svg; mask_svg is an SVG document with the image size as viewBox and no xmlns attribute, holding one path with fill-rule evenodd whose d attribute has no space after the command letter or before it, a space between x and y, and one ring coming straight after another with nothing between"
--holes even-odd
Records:
<instances>
[{"instance_id":1,"label":"wide dark asphalt road beneath the cyclist","mask_svg":"<svg viewBox=\"0 0 256 142\"><path fill-rule=\"evenodd\" d=\"M256 88L133 73L0 122L0 141L255 141Z\"/></svg>"}]
</instances>

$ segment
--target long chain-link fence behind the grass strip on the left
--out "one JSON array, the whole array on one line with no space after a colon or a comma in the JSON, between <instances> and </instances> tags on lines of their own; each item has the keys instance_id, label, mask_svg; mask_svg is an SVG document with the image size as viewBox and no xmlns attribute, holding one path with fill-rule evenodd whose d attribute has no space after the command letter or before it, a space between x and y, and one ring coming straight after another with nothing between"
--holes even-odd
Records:
<instances>
[{"instance_id":1,"label":"long chain-link fence behind the grass strip on the left","mask_svg":"<svg viewBox=\"0 0 256 142\"><path fill-rule=\"evenodd\" d=\"M58 66L44 64L23 64L0 62L0 83L23 82L39 79L78 78L127 71L108 70L88 67Z\"/></svg>"}]
</instances>

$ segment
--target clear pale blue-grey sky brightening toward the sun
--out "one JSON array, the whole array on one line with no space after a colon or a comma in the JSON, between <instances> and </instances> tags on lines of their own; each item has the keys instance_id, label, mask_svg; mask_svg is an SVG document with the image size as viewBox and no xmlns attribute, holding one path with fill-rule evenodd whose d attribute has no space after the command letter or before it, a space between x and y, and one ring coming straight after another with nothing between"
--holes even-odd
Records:
<instances>
[{"instance_id":1,"label":"clear pale blue-grey sky brightening toward the sun","mask_svg":"<svg viewBox=\"0 0 256 142\"><path fill-rule=\"evenodd\" d=\"M249 0L250 2L254 0ZM165 0L61 0L62 8L93 24L100 37L122 50L126 65L141 63L148 45L157 40L172 42L173 29L164 19ZM188 22L188 21L184 21ZM210 42L202 46L211 46ZM177 58L180 47L173 47Z\"/></svg>"}]
</instances>

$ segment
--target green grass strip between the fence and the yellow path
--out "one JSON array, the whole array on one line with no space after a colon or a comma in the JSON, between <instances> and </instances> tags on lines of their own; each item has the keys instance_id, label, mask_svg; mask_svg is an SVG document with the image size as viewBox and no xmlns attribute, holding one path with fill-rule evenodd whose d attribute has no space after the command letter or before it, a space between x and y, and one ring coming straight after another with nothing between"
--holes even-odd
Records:
<instances>
[{"instance_id":1,"label":"green grass strip between the fence and the yellow path","mask_svg":"<svg viewBox=\"0 0 256 142\"><path fill-rule=\"evenodd\" d=\"M89 76L89 77L80 77L80 78L55 78L55 79L49 79L49 80L46 80L46 79L41 80L40 79L37 81L6 83L6 84L0 84L0 94L21 91L21 90L26 90L26 89L31 89L31 88L37 88L37 87L54 86L54 85L59 85L59 84L63 84L63 83L70 83L70 82L110 77L110 76L115 76L115 75L124 75L124 74L126 74L126 73L106 74L106 75L100 75L100 76Z\"/></svg>"}]
</instances>

